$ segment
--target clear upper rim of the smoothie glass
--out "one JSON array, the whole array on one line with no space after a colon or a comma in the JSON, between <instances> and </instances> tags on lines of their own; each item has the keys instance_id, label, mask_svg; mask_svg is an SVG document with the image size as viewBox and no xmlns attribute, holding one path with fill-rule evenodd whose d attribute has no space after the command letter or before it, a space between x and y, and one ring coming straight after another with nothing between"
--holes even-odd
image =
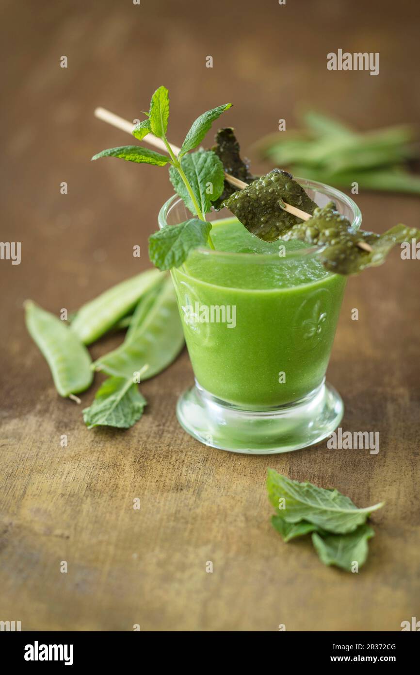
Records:
<instances>
[{"instance_id":1,"label":"clear upper rim of the smoothie glass","mask_svg":"<svg viewBox=\"0 0 420 675\"><path fill-rule=\"evenodd\" d=\"M322 192L322 194L326 194L326 196L329 196L332 198L332 200L339 200L340 202L343 202L344 205L346 205L351 211L353 212L353 221L351 222L351 226L353 229L359 229L361 226L362 222L362 215L361 215L361 210L357 206L356 202L349 197L347 194L344 194L344 192L341 192L341 190L338 190L337 188L333 188L330 185L326 185L325 183L320 183L316 180L310 180L309 178L300 178L299 176L295 177L295 180L301 185L303 188L309 188L311 190L315 190L316 192ZM159 228L162 229L162 227L165 227L167 225L167 216L169 214L169 211L171 210L172 207L174 207L177 203L182 202L181 197L178 194L173 194L169 199L164 202L164 205L160 208L160 211L158 213L158 225ZM212 213L217 213L216 211L213 211ZM191 215L191 217L193 217ZM232 214L233 218L235 218L235 215ZM227 220L227 218L220 218L220 221ZM282 240L279 238L279 242ZM293 258L300 258L302 256L312 256L316 257L319 255L325 246L309 246L307 248L301 248L295 251L289 251L287 252L286 256L279 256L278 252L272 252L272 253L237 253L237 252L230 252L230 251L220 251L220 250L213 250L212 248L202 248L201 246L194 249L194 253L199 253L205 256L210 256L210 257L217 257L219 259L225 259L225 260L236 260L236 261L242 261L245 262L247 259L252 261L254 264L255 263L276 263L276 264L281 264L287 261L290 261Z\"/></svg>"}]
</instances>

